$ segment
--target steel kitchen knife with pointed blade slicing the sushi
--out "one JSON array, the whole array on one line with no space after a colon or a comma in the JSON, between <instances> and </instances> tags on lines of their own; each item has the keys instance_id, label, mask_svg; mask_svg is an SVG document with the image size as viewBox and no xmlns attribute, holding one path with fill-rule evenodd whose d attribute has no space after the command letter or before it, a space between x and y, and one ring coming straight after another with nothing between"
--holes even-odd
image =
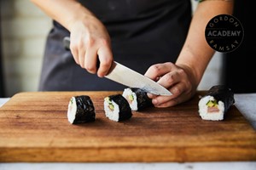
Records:
<instances>
[{"instance_id":1,"label":"steel kitchen knife with pointed blade slicing the sushi","mask_svg":"<svg viewBox=\"0 0 256 170\"><path fill-rule=\"evenodd\" d=\"M64 37L63 45L66 49L69 49L70 38ZM161 86L159 83L154 82L152 79L143 76L137 71L133 71L125 65L121 65L116 61L113 61L111 68L106 78L119 82L127 87L131 88L142 88L149 94L156 95L172 95L166 88Z\"/></svg>"}]
</instances>

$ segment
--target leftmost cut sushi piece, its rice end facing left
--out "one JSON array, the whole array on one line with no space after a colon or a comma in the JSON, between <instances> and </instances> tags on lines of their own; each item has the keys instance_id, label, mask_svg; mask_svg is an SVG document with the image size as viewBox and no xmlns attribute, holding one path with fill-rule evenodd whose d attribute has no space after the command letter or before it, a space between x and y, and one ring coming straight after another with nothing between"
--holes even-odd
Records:
<instances>
[{"instance_id":1,"label":"leftmost cut sushi piece, its rice end facing left","mask_svg":"<svg viewBox=\"0 0 256 170\"><path fill-rule=\"evenodd\" d=\"M68 104L67 119L72 124L94 122L96 113L90 97L87 95L73 96Z\"/></svg>"}]
</instances>

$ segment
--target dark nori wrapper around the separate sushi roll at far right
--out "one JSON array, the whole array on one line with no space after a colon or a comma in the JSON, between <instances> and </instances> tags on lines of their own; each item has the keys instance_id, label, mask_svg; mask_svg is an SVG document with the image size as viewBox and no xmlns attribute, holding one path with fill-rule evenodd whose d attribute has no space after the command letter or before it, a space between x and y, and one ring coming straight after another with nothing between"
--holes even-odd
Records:
<instances>
[{"instance_id":1,"label":"dark nori wrapper around the separate sushi roll at far right","mask_svg":"<svg viewBox=\"0 0 256 170\"><path fill-rule=\"evenodd\" d=\"M230 106L235 103L234 93L232 90L224 85L212 86L207 92L207 95L214 97L218 101L224 103L224 112L230 109Z\"/></svg>"}]
</instances>

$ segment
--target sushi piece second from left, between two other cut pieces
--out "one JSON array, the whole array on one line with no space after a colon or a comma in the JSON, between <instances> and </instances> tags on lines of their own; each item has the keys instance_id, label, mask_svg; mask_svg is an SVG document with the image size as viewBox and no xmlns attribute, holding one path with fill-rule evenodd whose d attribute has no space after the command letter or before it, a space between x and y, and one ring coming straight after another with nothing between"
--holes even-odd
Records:
<instances>
[{"instance_id":1,"label":"sushi piece second from left, between two other cut pieces","mask_svg":"<svg viewBox=\"0 0 256 170\"><path fill-rule=\"evenodd\" d=\"M115 122L130 119L132 116L131 107L121 94L106 97L104 99L104 111L108 119Z\"/></svg>"}]
</instances>

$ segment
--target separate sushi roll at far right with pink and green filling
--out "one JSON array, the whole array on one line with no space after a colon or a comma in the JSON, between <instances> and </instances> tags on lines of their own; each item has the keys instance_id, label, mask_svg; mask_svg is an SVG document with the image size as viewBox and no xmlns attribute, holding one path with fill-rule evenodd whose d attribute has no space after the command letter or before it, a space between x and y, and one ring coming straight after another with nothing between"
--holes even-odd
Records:
<instances>
[{"instance_id":1,"label":"separate sushi roll at far right with pink and green filling","mask_svg":"<svg viewBox=\"0 0 256 170\"><path fill-rule=\"evenodd\" d=\"M224 114L235 103L234 94L224 85L210 88L199 101L199 113L203 120L222 121Z\"/></svg>"}]
</instances>

